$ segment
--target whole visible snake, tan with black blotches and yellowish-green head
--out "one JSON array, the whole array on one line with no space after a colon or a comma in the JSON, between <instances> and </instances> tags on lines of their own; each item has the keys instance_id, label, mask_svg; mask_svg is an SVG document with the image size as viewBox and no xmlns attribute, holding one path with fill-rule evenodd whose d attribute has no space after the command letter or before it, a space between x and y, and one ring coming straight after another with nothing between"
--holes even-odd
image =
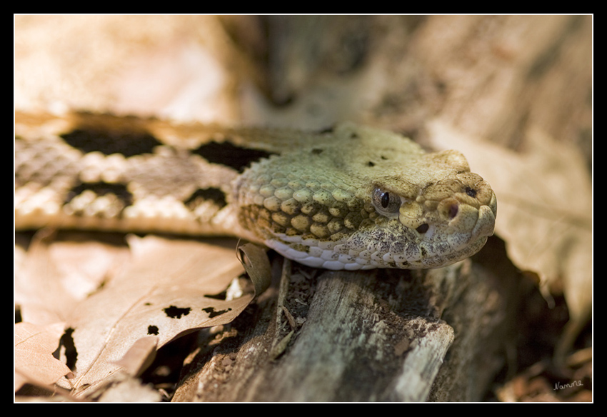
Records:
<instances>
[{"instance_id":1,"label":"whole visible snake, tan with black blotches and yellowish-green head","mask_svg":"<svg viewBox=\"0 0 607 417\"><path fill-rule=\"evenodd\" d=\"M303 133L15 114L15 228L239 236L308 266L437 268L478 252L497 202L458 151L389 131Z\"/></svg>"}]
</instances>

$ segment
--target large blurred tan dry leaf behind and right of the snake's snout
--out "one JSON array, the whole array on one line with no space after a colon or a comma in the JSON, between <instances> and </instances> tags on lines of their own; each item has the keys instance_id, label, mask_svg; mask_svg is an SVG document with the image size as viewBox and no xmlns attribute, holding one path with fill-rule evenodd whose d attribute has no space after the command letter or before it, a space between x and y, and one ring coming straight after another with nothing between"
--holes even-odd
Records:
<instances>
[{"instance_id":1,"label":"large blurred tan dry leaf behind and right of the snake's snout","mask_svg":"<svg viewBox=\"0 0 607 417\"><path fill-rule=\"evenodd\" d=\"M433 146L461 151L493 187L496 234L511 261L537 273L547 296L562 285L570 313L566 348L592 308L592 187L582 156L537 129L528 131L522 153L469 139L438 121L429 129Z\"/></svg>"}]
</instances>

